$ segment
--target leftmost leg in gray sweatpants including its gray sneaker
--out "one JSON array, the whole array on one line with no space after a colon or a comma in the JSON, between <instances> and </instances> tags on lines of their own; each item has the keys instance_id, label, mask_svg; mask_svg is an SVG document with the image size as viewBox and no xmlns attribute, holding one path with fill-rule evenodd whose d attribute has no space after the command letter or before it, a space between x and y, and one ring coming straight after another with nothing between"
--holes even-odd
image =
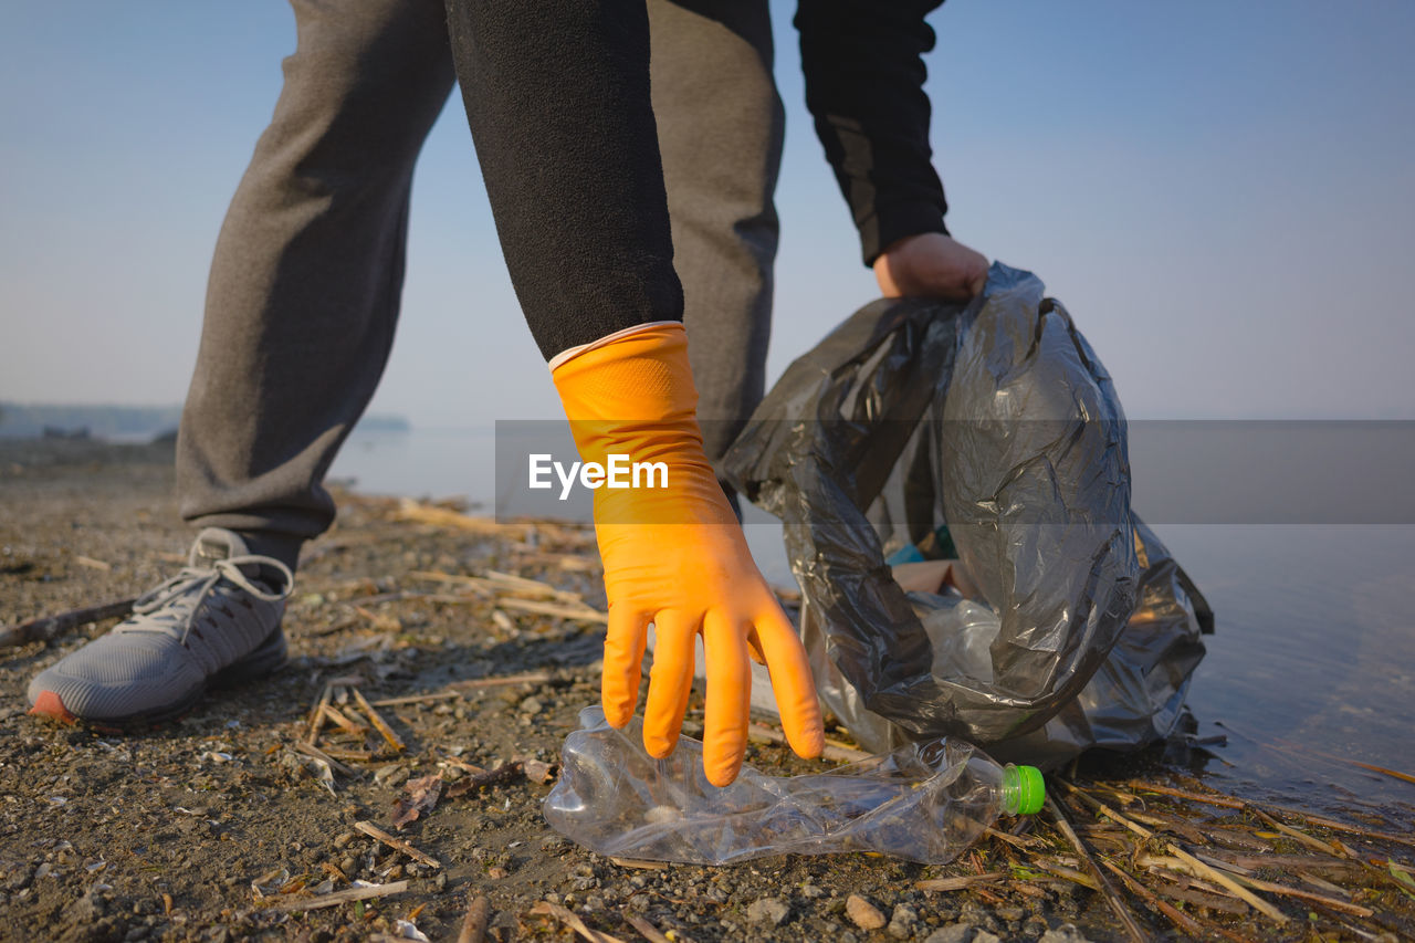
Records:
<instances>
[{"instance_id":1,"label":"leftmost leg in gray sweatpants including its gray sneaker","mask_svg":"<svg viewBox=\"0 0 1415 943\"><path fill-rule=\"evenodd\" d=\"M388 357L413 163L453 84L441 4L294 0L299 47L231 204L178 436L188 565L30 684L31 712L127 726L284 661L321 480ZM273 559L272 559L273 558Z\"/></svg>"}]
</instances>

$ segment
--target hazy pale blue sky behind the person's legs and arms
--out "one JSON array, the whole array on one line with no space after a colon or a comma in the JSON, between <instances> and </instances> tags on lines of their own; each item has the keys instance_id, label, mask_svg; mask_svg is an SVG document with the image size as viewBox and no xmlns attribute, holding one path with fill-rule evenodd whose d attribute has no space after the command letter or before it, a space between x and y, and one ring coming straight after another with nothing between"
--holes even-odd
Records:
<instances>
[{"instance_id":1,"label":"hazy pale blue sky behind the person's legs and arms","mask_svg":"<svg viewBox=\"0 0 1415 943\"><path fill-rule=\"evenodd\" d=\"M771 375L873 297L773 3L787 103ZM931 23L954 234L1032 269L1132 418L1415 418L1415 4L952 0ZM0 4L0 399L183 398L279 0ZM549 416L460 99L419 164L374 409Z\"/></svg>"}]
</instances>

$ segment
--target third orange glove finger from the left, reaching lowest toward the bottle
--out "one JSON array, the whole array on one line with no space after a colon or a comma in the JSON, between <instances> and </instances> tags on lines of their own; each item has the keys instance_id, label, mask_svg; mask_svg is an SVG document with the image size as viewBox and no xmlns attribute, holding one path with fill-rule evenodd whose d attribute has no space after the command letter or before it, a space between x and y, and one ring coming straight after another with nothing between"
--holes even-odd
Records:
<instances>
[{"instance_id":1,"label":"third orange glove finger from the left, reaching lowest toward the bottle","mask_svg":"<svg viewBox=\"0 0 1415 943\"><path fill-rule=\"evenodd\" d=\"M713 786L737 779L747 752L751 671L741 626L709 613L703 626L708 651L708 708L703 718L703 770Z\"/></svg>"}]
</instances>

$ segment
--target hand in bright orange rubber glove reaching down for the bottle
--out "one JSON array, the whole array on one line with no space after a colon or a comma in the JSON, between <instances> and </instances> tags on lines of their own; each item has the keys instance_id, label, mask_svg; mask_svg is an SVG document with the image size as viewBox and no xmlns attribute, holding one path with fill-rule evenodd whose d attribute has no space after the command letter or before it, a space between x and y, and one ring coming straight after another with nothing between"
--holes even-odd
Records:
<instances>
[{"instance_id":1,"label":"hand in bright orange rubber glove reaching down for the bottle","mask_svg":"<svg viewBox=\"0 0 1415 943\"><path fill-rule=\"evenodd\" d=\"M644 748L668 756L693 681L695 636L708 656L703 766L726 786L747 748L749 647L771 670L781 725L804 758L821 753L821 711L801 640L757 571L703 453L688 336L678 323L633 328L552 361L580 457L662 462L668 487L594 491L610 619L604 639L604 716L624 726L638 702L640 663L657 643L644 708ZM659 483L657 474L654 484Z\"/></svg>"}]
</instances>

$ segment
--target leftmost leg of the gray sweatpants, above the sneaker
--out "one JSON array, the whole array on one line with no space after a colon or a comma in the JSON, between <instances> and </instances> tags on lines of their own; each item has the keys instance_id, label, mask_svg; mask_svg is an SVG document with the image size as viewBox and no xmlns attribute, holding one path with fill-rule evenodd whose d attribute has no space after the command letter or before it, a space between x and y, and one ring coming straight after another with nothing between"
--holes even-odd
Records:
<instances>
[{"instance_id":1,"label":"leftmost leg of the gray sweatpants, above the sneaker","mask_svg":"<svg viewBox=\"0 0 1415 943\"><path fill-rule=\"evenodd\" d=\"M413 163L453 86L437 0L293 0L296 52L216 242L181 514L294 566L393 341Z\"/></svg>"}]
</instances>

